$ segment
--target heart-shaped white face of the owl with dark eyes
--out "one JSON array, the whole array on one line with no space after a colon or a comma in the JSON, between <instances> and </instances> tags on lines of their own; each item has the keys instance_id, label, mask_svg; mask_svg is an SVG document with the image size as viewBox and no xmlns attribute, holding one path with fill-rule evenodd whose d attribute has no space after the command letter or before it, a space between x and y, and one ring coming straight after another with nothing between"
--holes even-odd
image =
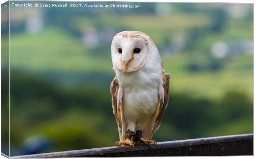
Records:
<instances>
[{"instance_id":1,"label":"heart-shaped white face of the owl with dark eyes","mask_svg":"<svg viewBox=\"0 0 256 159\"><path fill-rule=\"evenodd\" d=\"M124 31L118 33L112 41L111 57L113 66L123 72L141 69L148 57L148 41L142 32Z\"/></svg>"}]
</instances>

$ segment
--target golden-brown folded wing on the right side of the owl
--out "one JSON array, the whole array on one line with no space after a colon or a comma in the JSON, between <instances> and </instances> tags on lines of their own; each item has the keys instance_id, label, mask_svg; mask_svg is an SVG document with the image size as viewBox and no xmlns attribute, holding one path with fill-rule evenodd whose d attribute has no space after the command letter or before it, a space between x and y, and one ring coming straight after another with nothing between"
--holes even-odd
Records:
<instances>
[{"instance_id":1,"label":"golden-brown folded wing on the right side of the owl","mask_svg":"<svg viewBox=\"0 0 256 159\"><path fill-rule=\"evenodd\" d=\"M166 110L166 107L168 105L169 101L169 79L170 79L170 74L163 74L163 88L164 88L164 97L161 97L159 94L159 103L156 108L156 114L155 114L155 120L154 120L154 126L151 131L151 134L149 135L149 138L152 138L154 132L160 127L161 121L164 117L164 112Z\"/></svg>"}]
</instances>

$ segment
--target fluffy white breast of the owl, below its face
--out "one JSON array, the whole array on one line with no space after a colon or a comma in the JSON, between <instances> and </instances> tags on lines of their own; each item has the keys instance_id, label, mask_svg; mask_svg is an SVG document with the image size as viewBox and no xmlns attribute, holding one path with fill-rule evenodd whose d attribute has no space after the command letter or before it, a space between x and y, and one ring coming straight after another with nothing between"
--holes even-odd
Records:
<instances>
[{"instance_id":1,"label":"fluffy white breast of the owl, below its face","mask_svg":"<svg viewBox=\"0 0 256 159\"><path fill-rule=\"evenodd\" d=\"M135 72L116 71L123 88L123 114L126 119L143 122L156 111L162 66L159 53L151 55L146 64Z\"/></svg>"}]
</instances>

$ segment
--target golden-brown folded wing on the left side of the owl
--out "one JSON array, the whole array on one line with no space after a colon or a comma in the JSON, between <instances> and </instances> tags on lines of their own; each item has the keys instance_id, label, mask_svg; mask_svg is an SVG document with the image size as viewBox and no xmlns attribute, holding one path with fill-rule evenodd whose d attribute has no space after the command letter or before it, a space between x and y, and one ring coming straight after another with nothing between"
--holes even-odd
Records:
<instances>
[{"instance_id":1,"label":"golden-brown folded wing on the left side of the owl","mask_svg":"<svg viewBox=\"0 0 256 159\"><path fill-rule=\"evenodd\" d=\"M119 81L115 77L110 85L110 92L112 95L112 107L113 107L113 113L116 118L118 130L119 130L119 139L120 141L123 141L123 132L122 132L122 120L121 120L121 111L122 111L122 102L118 103L118 93L119 93Z\"/></svg>"}]
</instances>

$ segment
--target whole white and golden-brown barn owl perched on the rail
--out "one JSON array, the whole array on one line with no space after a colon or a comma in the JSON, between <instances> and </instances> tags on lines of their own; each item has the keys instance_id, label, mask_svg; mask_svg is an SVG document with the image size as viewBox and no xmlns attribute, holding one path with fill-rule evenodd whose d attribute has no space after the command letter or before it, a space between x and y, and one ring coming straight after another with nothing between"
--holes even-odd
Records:
<instances>
[{"instance_id":1,"label":"whole white and golden-brown barn owl perched on the rail","mask_svg":"<svg viewBox=\"0 0 256 159\"><path fill-rule=\"evenodd\" d=\"M111 44L111 58L116 76L110 92L120 140L116 145L133 146L133 133L155 144L150 139L168 104L170 78L156 45L143 32L119 32Z\"/></svg>"}]
</instances>

